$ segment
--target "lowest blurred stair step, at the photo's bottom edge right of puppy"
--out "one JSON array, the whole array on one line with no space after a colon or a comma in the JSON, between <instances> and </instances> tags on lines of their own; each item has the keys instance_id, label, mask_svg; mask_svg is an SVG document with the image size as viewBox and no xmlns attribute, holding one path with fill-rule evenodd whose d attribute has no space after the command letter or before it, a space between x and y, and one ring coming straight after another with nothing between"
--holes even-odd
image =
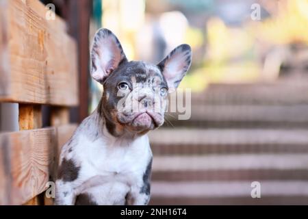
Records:
<instances>
[{"instance_id":1,"label":"lowest blurred stair step, at the photo's bottom edge right of puppy","mask_svg":"<svg viewBox=\"0 0 308 219\"><path fill-rule=\"evenodd\" d=\"M261 198L251 197L252 181L154 181L152 205L307 205L308 181L259 181Z\"/></svg>"}]
</instances>

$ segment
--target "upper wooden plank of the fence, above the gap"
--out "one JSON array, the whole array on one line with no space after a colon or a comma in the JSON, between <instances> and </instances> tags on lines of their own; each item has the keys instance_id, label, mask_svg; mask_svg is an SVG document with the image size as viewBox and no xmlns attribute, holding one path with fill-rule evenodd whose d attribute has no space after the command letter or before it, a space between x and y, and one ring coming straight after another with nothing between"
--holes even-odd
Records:
<instances>
[{"instance_id":1,"label":"upper wooden plank of the fence, above the gap","mask_svg":"<svg viewBox=\"0 0 308 219\"><path fill-rule=\"evenodd\" d=\"M1 1L0 101L77 105L77 50L59 17L38 0ZM5 63L5 68L3 68Z\"/></svg>"}]
</instances>

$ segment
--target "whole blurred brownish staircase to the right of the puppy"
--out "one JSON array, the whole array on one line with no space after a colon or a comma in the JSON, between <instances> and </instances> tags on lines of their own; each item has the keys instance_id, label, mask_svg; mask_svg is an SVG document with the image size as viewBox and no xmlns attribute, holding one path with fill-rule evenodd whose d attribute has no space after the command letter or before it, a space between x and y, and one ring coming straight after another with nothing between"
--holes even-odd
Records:
<instances>
[{"instance_id":1,"label":"whole blurred brownish staircase to the right of the puppy","mask_svg":"<svg viewBox=\"0 0 308 219\"><path fill-rule=\"evenodd\" d=\"M149 134L150 204L308 205L307 83L212 85L169 120Z\"/></svg>"}]
</instances>

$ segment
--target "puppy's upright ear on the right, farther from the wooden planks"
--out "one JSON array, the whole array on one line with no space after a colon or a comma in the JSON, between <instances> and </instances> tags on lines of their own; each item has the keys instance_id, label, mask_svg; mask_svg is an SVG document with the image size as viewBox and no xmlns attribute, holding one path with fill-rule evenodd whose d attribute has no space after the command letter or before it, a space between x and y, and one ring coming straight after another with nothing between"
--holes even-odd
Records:
<instances>
[{"instance_id":1,"label":"puppy's upright ear on the right, farther from the wooden planks","mask_svg":"<svg viewBox=\"0 0 308 219\"><path fill-rule=\"evenodd\" d=\"M170 90L175 90L186 75L192 62L192 49L188 44L181 44L173 49L157 66L162 70Z\"/></svg>"}]
</instances>

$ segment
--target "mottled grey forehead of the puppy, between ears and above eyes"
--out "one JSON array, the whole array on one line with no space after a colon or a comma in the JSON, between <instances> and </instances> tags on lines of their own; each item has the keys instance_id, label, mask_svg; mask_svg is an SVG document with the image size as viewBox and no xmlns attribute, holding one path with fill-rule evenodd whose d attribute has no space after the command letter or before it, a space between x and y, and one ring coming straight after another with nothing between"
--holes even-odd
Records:
<instances>
[{"instance_id":1,"label":"mottled grey forehead of the puppy, between ears and above eyes","mask_svg":"<svg viewBox=\"0 0 308 219\"><path fill-rule=\"evenodd\" d=\"M120 64L114 73L105 81L105 86L116 86L120 81L129 81L131 86L163 86L168 88L161 70L154 64L146 62L125 62Z\"/></svg>"}]
</instances>

